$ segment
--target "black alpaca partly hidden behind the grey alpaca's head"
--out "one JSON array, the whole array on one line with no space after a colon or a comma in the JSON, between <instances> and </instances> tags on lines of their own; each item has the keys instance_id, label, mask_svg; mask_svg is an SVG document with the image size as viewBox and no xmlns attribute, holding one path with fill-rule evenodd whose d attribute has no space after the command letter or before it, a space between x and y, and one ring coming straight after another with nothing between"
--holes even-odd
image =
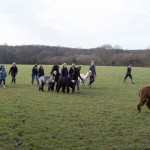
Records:
<instances>
[{"instance_id":1,"label":"black alpaca partly hidden behind the grey alpaca's head","mask_svg":"<svg viewBox=\"0 0 150 150\"><path fill-rule=\"evenodd\" d=\"M57 87L58 87L58 80L59 80L59 77L60 77L59 66L58 65L54 65L52 67L50 74L52 74L54 71L56 71L57 73L56 73L56 76L55 76L55 82L52 83L52 85L51 85L51 88L50 88L51 91L54 91L55 83L56 83L56 90L57 90Z\"/></svg>"}]
</instances>

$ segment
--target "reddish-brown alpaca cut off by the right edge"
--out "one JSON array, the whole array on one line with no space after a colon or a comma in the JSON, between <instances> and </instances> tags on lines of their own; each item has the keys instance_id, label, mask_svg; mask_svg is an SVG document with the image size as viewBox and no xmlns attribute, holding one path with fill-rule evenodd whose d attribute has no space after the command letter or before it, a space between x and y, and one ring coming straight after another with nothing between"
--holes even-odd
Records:
<instances>
[{"instance_id":1,"label":"reddish-brown alpaca cut off by the right edge","mask_svg":"<svg viewBox=\"0 0 150 150\"><path fill-rule=\"evenodd\" d=\"M137 105L138 112L141 112L141 107L146 103L148 109L150 109L150 86L143 87L139 91L140 102Z\"/></svg>"}]
</instances>

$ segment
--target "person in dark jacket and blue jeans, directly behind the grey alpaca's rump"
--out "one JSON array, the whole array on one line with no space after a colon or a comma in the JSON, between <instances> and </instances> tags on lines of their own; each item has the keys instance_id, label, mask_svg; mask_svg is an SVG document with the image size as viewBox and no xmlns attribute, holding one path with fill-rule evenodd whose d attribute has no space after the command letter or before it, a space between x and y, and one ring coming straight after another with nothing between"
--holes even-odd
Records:
<instances>
[{"instance_id":1,"label":"person in dark jacket and blue jeans, directly behind the grey alpaca's rump","mask_svg":"<svg viewBox=\"0 0 150 150\"><path fill-rule=\"evenodd\" d=\"M36 82L37 82L37 85L39 84L39 70L38 70L38 67L37 67L37 64L34 65L34 67L32 68L32 85L34 84L34 79L36 79Z\"/></svg>"}]
</instances>

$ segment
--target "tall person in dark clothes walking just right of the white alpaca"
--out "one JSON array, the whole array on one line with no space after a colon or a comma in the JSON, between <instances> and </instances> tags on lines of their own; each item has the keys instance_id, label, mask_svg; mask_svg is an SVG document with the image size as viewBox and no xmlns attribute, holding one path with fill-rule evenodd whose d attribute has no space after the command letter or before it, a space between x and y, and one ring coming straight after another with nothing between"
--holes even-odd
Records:
<instances>
[{"instance_id":1,"label":"tall person in dark clothes walking just right of the white alpaca","mask_svg":"<svg viewBox=\"0 0 150 150\"><path fill-rule=\"evenodd\" d=\"M90 75L90 81L89 81L88 86L89 88L91 88L91 85L95 81L95 77L96 77L96 68L95 68L94 61L91 62L91 66L89 70L91 70L91 75Z\"/></svg>"}]
</instances>

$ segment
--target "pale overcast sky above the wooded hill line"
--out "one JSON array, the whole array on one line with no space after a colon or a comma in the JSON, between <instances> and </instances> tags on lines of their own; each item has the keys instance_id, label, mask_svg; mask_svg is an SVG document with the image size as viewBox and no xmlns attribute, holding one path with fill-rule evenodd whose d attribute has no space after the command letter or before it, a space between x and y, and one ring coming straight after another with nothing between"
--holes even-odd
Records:
<instances>
[{"instance_id":1,"label":"pale overcast sky above the wooded hill line","mask_svg":"<svg viewBox=\"0 0 150 150\"><path fill-rule=\"evenodd\" d=\"M150 46L150 0L0 0L0 44Z\"/></svg>"}]
</instances>

